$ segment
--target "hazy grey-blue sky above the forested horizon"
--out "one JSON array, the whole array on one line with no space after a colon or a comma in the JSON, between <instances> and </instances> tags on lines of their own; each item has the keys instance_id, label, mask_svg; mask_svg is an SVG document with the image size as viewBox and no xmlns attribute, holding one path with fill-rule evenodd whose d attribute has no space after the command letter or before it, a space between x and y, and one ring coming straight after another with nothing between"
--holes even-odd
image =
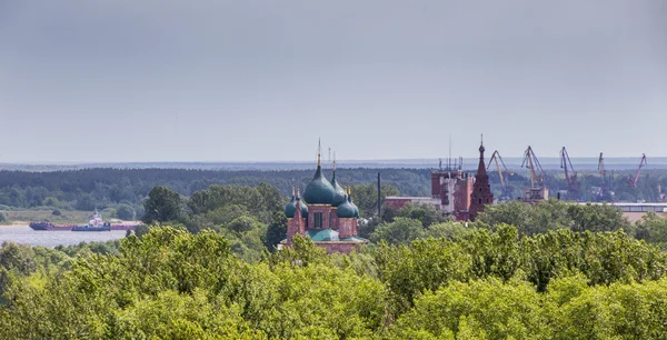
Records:
<instances>
[{"instance_id":1,"label":"hazy grey-blue sky above the forested horizon","mask_svg":"<svg viewBox=\"0 0 667 340\"><path fill-rule=\"evenodd\" d=\"M0 162L666 156L667 1L0 0Z\"/></svg>"}]
</instances>

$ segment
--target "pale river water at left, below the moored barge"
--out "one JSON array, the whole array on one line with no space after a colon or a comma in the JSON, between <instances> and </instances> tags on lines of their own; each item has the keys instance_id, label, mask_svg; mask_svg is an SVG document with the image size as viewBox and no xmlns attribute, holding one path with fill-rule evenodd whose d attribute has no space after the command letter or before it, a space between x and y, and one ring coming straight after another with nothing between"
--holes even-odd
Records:
<instances>
[{"instance_id":1,"label":"pale river water at left, below the moored barge","mask_svg":"<svg viewBox=\"0 0 667 340\"><path fill-rule=\"evenodd\" d=\"M125 230L111 231L36 231L28 226L0 227L0 244L12 241L23 244L56 247L58 244L71 246L81 242L103 242L122 239Z\"/></svg>"}]
</instances>

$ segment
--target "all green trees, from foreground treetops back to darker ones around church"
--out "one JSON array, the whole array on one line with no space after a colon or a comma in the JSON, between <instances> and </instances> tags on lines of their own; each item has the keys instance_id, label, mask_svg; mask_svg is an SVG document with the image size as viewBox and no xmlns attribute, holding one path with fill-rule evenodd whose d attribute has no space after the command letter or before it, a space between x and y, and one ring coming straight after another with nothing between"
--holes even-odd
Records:
<instances>
[{"instance_id":1,"label":"all green trees, from foreground treetops back to darker ones around church","mask_svg":"<svg viewBox=\"0 0 667 340\"><path fill-rule=\"evenodd\" d=\"M355 189L372 210L372 184ZM141 209L151 227L121 241L6 242L0 339L667 333L667 219L656 214L633 224L609 206L509 201L460 223L407 204L360 220L371 244L327 256L300 237L276 251L286 201L262 182L213 184L190 197L156 187Z\"/></svg>"}]
</instances>

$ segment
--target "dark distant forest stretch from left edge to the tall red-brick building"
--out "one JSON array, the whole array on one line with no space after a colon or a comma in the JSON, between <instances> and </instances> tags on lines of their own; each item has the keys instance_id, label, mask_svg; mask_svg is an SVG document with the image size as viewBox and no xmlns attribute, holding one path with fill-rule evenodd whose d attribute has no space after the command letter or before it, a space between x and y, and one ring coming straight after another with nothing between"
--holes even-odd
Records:
<instances>
[{"instance_id":1,"label":"dark distant forest stretch from left edge to the tall red-brick building","mask_svg":"<svg viewBox=\"0 0 667 340\"><path fill-rule=\"evenodd\" d=\"M384 181L404 194L430 192L427 169L382 169ZM327 176L330 177L330 173ZM0 171L0 210L57 208L94 210L125 203L139 208L155 187L168 187L189 197L212 184L257 187L268 183L287 197L300 183L303 190L312 170L196 170L196 169L83 169L29 172ZM377 169L339 169L349 184L371 183Z\"/></svg>"}]
</instances>

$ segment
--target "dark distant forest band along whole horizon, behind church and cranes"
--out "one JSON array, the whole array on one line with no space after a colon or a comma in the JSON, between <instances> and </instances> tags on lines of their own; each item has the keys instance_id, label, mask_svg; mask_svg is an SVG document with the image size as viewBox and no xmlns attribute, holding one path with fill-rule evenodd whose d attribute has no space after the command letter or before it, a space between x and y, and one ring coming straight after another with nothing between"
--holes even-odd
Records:
<instances>
[{"instance_id":1,"label":"dark distant forest band along whole horizon, behind church and cranes","mask_svg":"<svg viewBox=\"0 0 667 340\"><path fill-rule=\"evenodd\" d=\"M327 176L330 177L330 173ZM429 196L429 169L338 169L340 182L372 186L377 173L381 172L382 182L395 188L397 194ZM529 179L517 171L506 179L507 187L500 186L495 171L489 171L491 189L496 199L516 199L528 187ZM667 188L667 170L646 170L636 188L627 181L631 171L616 172L609 181L608 190L615 192L615 199L625 201L656 201L659 197L658 184ZM8 209L61 209L87 210L118 208L129 206L142 214L140 207L148 192L158 186L168 187L179 194L189 197L212 184L235 184L257 187L265 182L276 187L285 197L291 188L303 189L312 178L312 170L197 170L197 169L82 169L67 171L0 171L0 210ZM610 177L609 177L610 178ZM567 193L565 198L597 200L604 180L596 173L579 174L580 189ZM566 190L563 174L548 171L546 184L552 197L559 190ZM371 187L368 187L369 190ZM596 189L597 188L597 189ZM367 204L370 207L370 204ZM127 210L127 208L123 208Z\"/></svg>"}]
</instances>

